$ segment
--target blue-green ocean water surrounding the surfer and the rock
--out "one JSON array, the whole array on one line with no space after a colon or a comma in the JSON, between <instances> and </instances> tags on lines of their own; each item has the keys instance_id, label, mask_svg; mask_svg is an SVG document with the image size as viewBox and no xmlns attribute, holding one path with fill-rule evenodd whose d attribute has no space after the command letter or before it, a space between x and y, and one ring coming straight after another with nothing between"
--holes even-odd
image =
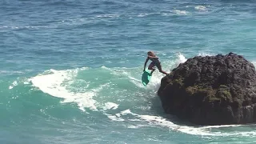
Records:
<instances>
[{"instance_id":1,"label":"blue-green ocean water surrounding the surfer and the rock","mask_svg":"<svg viewBox=\"0 0 256 144\"><path fill-rule=\"evenodd\" d=\"M256 125L194 126L162 110L170 72L197 55L256 64L254 0L2 0L0 143L255 143Z\"/></svg>"}]
</instances>

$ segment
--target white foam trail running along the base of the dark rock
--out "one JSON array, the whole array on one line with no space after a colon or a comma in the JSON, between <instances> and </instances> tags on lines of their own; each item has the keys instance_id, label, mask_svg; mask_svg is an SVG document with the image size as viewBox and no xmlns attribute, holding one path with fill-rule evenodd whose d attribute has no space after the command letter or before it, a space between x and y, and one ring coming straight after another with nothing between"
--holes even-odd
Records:
<instances>
[{"instance_id":1,"label":"white foam trail running along the base of the dark rock","mask_svg":"<svg viewBox=\"0 0 256 144\"><path fill-rule=\"evenodd\" d=\"M122 118L126 115L133 115L135 118L128 117ZM223 128L223 127L238 127L242 125L221 125L221 126L201 126L201 127L194 127L194 126L180 126L178 124L174 124L174 122L170 122L166 118L162 118L159 116L154 115L142 115L142 114L134 114L133 112L128 110L123 110L119 112L118 114L110 115L107 114L108 118L110 118L113 121L130 121L130 122L136 122L134 125L128 126L128 128L136 129L140 128L142 126L162 126L167 127L171 130L180 131L182 133L191 134L191 135L202 135L202 136L256 136L256 131L246 131L246 132L238 132L238 131L230 131L230 132L222 132L222 131L210 131L211 129ZM141 124L139 122L147 122L148 124Z\"/></svg>"}]
</instances>

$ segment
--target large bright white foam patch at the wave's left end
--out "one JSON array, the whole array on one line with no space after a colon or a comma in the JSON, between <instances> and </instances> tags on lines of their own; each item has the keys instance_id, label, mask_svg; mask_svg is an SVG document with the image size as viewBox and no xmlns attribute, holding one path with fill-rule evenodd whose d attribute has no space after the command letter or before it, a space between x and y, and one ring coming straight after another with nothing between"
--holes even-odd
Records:
<instances>
[{"instance_id":1,"label":"large bright white foam patch at the wave's left end","mask_svg":"<svg viewBox=\"0 0 256 144\"><path fill-rule=\"evenodd\" d=\"M68 86L73 82L73 78L78 74L78 70L85 69L48 70L45 74L39 74L34 78L30 78L30 81L42 92L54 97L64 98L63 102L78 103L80 110L85 110L85 107L97 110L97 102L93 99L97 94L97 90L85 90L85 92L78 93L68 90Z\"/></svg>"}]
</instances>

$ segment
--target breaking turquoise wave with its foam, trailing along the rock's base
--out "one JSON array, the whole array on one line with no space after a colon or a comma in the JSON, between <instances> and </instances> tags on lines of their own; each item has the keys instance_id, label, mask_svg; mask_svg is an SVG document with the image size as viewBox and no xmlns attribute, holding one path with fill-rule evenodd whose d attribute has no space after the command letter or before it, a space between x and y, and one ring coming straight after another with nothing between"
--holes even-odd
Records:
<instances>
[{"instance_id":1,"label":"breaking turquoise wave with its foam, trailing along the rock's base","mask_svg":"<svg viewBox=\"0 0 256 144\"><path fill-rule=\"evenodd\" d=\"M163 65L174 67L182 62L186 62L186 57L178 53L172 61L163 62ZM82 67L74 70L46 70L29 78L28 82L36 90L62 98L61 102L76 103L86 114L90 114L90 110L104 114L111 121L121 122L122 126L130 129L150 126L202 136L256 136L255 130L237 131L236 128L242 125L190 126L177 119L166 118L166 114L159 114L158 110L154 110L154 102L147 104L150 99L157 97L156 92L163 75L155 72L149 85L142 86L141 74L141 67ZM10 88L17 85L18 82L15 81ZM160 105L156 107L161 109Z\"/></svg>"}]
</instances>

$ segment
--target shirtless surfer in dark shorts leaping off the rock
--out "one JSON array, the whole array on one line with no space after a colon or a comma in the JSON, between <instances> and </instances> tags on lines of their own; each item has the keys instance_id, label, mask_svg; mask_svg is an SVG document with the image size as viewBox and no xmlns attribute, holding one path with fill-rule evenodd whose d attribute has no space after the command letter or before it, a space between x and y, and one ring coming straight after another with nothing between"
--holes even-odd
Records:
<instances>
[{"instance_id":1,"label":"shirtless surfer in dark shorts leaping off the rock","mask_svg":"<svg viewBox=\"0 0 256 144\"><path fill-rule=\"evenodd\" d=\"M146 58L146 62L144 64L144 70L143 71L145 71L146 63L149 60L152 61L150 63L150 66L148 67L148 70L152 70L150 74L153 74L153 72L155 70L154 66L157 66L160 73L167 75L166 71L162 70L161 62L159 61L159 58L154 54L153 51L147 52L147 58Z\"/></svg>"}]
</instances>

